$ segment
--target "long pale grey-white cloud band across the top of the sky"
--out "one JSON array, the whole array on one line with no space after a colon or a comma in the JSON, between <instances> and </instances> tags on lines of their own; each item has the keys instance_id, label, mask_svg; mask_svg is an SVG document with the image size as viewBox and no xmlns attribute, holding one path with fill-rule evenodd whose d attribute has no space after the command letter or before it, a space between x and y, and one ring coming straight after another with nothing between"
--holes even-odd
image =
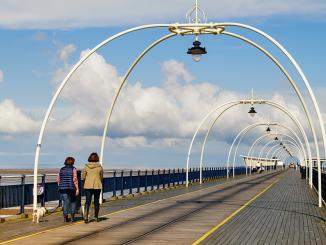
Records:
<instances>
[{"instance_id":1,"label":"long pale grey-white cloud band across the top of the sky","mask_svg":"<svg viewBox=\"0 0 326 245\"><path fill-rule=\"evenodd\" d=\"M65 29L180 22L184 20L185 13L192 4L193 1L188 0L2 0L0 26ZM326 11L326 3L323 0L202 0L200 4L207 11L210 21L230 17L324 14Z\"/></svg>"}]
</instances>

